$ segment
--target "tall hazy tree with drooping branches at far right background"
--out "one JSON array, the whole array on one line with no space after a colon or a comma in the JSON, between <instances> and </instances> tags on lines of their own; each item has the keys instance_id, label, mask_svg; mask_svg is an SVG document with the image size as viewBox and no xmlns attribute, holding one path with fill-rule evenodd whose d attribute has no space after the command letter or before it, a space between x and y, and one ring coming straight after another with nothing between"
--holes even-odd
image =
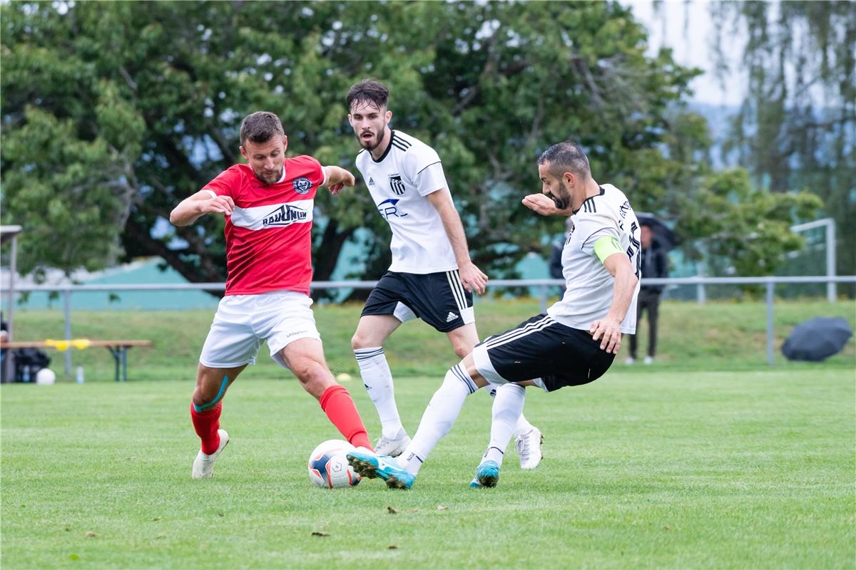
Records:
<instances>
[{"instance_id":1,"label":"tall hazy tree with drooping branches at far right background","mask_svg":"<svg viewBox=\"0 0 856 570\"><path fill-rule=\"evenodd\" d=\"M811 188L838 228L838 272L856 273L856 4L728 2L710 9L722 42L746 38L746 101L728 148L772 191Z\"/></svg>"}]
</instances>

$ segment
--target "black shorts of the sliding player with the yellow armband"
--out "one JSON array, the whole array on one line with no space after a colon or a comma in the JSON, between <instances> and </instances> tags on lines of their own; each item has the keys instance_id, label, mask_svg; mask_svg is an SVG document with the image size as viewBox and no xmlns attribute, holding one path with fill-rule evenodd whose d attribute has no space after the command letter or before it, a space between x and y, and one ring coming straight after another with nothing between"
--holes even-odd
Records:
<instances>
[{"instance_id":1,"label":"black shorts of the sliding player with the yellow armband","mask_svg":"<svg viewBox=\"0 0 856 570\"><path fill-rule=\"evenodd\" d=\"M477 344L473 360L492 384L540 378L544 390L554 391L597 380L615 355L601 350L588 332L539 314Z\"/></svg>"}]
</instances>

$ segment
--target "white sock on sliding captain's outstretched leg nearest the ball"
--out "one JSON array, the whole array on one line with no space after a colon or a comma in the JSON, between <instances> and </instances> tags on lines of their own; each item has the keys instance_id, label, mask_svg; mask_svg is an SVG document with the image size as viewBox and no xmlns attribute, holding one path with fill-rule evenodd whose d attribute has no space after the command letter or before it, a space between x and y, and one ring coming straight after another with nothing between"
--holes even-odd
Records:
<instances>
[{"instance_id":1,"label":"white sock on sliding captain's outstretched leg nearest the ball","mask_svg":"<svg viewBox=\"0 0 856 570\"><path fill-rule=\"evenodd\" d=\"M443 379L443 385L434 392L431 402L425 408L413 441L399 457L399 465L414 475L419 473L422 462L437 442L455 425L464 400L477 390L479 387L473 383L464 367L459 364L451 368Z\"/></svg>"}]
</instances>

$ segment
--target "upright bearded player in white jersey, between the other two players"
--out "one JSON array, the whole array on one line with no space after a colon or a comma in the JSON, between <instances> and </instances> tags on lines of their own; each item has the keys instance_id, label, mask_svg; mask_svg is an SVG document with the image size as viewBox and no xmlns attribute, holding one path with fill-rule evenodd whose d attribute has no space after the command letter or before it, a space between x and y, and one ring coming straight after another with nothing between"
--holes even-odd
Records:
<instances>
[{"instance_id":1,"label":"upright bearded player in white jersey, between the other two players","mask_svg":"<svg viewBox=\"0 0 856 570\"><path fill-rule=\"evenodd\" d=\"M348 91L348 120L362 147L356 165L392 230L392 264L366 300L351 345L383 428L376 449L395 456L410 438L395 405L383 341L402 322L419 318L444 332L456 355L467 356L479 342L473 291L484 292L487 275L470 259L440 157L418 138L389 128L388 100L386 86L373 79ZM537 467L541 432L519 416L520 466Z\"/></svg>"}]
</instances>

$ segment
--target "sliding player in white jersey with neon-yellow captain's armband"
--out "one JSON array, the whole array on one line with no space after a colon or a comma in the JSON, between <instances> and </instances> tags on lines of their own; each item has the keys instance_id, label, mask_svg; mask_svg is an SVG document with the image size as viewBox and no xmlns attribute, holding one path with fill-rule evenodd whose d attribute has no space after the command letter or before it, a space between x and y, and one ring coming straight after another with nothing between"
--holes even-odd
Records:
<instances>
[{"instance_id":1,"label":"sliding player in white jersey with neon-yellow captain's armband","mask_svg":"<svg viewBox=\"0 0 856 570\"><path fill-rule=\"evenodd\" d=\"M495 486L516 412L523 408L525 386L550 392L596 380L615 359L621 333L636 331L640 232L627 197L613 185L598 185L586 154L569 142L554 144L541 155L538 175L543 193L525 197L524 205L538 214L574 218L562 250L564 297L547 314L487 338L450 369L397 461L365 450L348 453L360 474L380 477L389 487L409 488L422 462L454 425L467 395L490 384L502 388L493 406L490 443L470 485Z\"/></svg>"}]
</instances>

